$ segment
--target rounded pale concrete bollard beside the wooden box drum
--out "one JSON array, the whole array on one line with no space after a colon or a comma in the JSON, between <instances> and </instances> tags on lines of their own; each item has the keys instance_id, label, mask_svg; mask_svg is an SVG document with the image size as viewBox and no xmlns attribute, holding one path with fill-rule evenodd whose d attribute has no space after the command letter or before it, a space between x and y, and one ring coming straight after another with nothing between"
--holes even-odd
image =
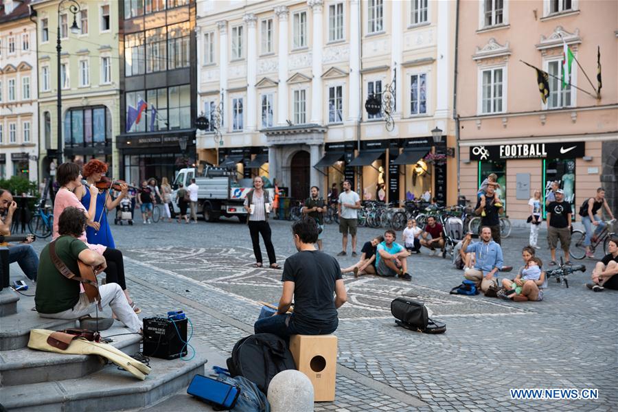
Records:
<instances>
[{"instance_id":1,"label":"rounded pale concrete bollard beside the wooden box drum","mask_svg":"<svg viewBox=\"0 0 618 412\"><path fill-rule=\"evenodd\" d=\"M271 412L312 412L313 385L300 371L279 372L268 385L268 402Z\"/></svg>"}]
</instances>

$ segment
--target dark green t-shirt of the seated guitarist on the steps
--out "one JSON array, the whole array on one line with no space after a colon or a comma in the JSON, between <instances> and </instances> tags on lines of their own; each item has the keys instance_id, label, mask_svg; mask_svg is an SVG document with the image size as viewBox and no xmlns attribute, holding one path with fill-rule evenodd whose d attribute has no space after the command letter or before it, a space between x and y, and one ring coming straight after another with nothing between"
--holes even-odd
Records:
<instances>
[{"instance_id":1,"label":"dark green t-shirt of the seated guitarist on the steps","mask_svg":"<svg viewBox=\"0 0 618 412\"><path fill-rule=\"evenodd\" d=\"M56 239L56 255L65 262L67 268L80 275L78 255L88 249L86 244L72 236ZM49 244L41 251L36 277L34 304L39 313L58 313L73 308L80 299L80 282L67 279L56 269L49 256Z\"/></svg>"}]
</instances>

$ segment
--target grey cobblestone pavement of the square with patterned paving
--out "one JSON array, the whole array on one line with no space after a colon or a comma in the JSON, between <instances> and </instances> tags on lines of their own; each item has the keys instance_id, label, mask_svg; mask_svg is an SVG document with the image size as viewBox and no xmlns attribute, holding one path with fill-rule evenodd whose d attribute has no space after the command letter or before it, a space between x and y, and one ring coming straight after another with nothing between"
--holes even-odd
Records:
<instances>
[{"instance_id":1,"label":"grey cobblestone pavement of the square with patterned paving","mask_svg":"<svg viewBox=\"0 0 618 412\"><path fill-rule=\"evenodd\" d=\"M273 221L277 261L295 253L290 222ZM126 258L128 287L146 316L181 308L194 325L194 345L228 354L253 330L257 301L277 302L281 271L253 268L249 231L235 220L185 225L159 222L113 227ZM359 229L362 242L382 233ZM503 241L505 264L516 268L527 231ZM545 239L541 231L540 239ZM334 225L325 251L341 250ZM36 242L41 249L43 242ZM544 244L539 256L549 262ZM600 252L597 253L600 257ZM339 258L341 266L356 261ZM264 253L266 257L266 253ZM457 271L426 252L409 258L412 282L346 276L349 301L339 310L336 401L317 411L610 411L618 404L618 293L592 293L588 271L569 286L550 282L542 302L516 304L449 295ZM447 332L397 328L389 306L400 295L424 301ZM512 400L511 388L597 388L598 400Z\"/></svg>"}]
</instances>

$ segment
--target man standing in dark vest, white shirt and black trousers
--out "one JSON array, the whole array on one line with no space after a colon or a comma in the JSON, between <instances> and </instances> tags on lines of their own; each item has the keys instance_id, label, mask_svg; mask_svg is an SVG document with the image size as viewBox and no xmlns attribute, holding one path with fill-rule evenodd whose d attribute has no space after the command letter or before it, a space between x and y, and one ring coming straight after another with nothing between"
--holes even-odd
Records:
<instances>
[{"instance_id":1,"label":"man standing in dark vest, white shirt and black trousers","mask_svg":"<svg viewBox=\"0 0 618 412\"><path fill-rule=\"evenodd\" d=\"M253 243L253 254L255 255L254 268L262 267L262 249L260 249L260 234L266 246L268 254L268 262L271 269L280 269L275 256L275 248L271 242L271 225L268 225L268 214L271 212L273 204L268 195L264 191L264 181L262 177L255 176L253 179L253 189L247 193L247 198L244 199L244 209L247 211L247 225L249 225L249 233L251 233L251 243Z\"/></svg>"}]
</instances>

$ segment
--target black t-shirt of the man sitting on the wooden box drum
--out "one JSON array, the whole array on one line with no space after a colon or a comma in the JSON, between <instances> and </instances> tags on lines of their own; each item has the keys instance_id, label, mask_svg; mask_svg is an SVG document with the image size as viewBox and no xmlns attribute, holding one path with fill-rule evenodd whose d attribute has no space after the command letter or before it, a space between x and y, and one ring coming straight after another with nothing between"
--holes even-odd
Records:
<instances>
[{"instance_id":1,"label":"black t-shirt of the man sitting on the wooden box drum","mask_svg":"<svg viewBox=\"0 0 618 412\"><path fill-rule=\"evenodd\" d=\"M282 281L294 282L291 321L300 328L333 332L339 325L333 297L337 279L339 262L326 253L301 251L287 258Z\"/></svg>"}]
</instances>

